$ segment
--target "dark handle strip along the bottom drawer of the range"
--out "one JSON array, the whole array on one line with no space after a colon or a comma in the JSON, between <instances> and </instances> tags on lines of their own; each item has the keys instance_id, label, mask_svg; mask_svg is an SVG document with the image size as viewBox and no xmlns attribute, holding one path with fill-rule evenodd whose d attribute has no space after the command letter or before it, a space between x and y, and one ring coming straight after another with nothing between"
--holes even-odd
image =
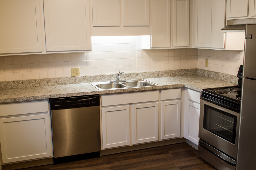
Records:
<instances>
[{"instance_id":1,"label":"dark handle strip along the bottom drawer of the range","mask_svg":"<svg viewBox=\"0 0 256 170\"><path fill-rule=\"evenodd\" d=\"M229 156L221 153L220 151L218 151L217 149L215 149L212 146L208 145L207 143L201 141L200 139L199 139L199 145L201 147L203 147L204 149L206 149L207 151L209 151L210 153L212 153L213 155L215 155L218 158L220 158L221 160L223 160L224 162L228 163L229 165L236 166L236 161L235 160L233 160Z\"/></svg>"}]
</instances>

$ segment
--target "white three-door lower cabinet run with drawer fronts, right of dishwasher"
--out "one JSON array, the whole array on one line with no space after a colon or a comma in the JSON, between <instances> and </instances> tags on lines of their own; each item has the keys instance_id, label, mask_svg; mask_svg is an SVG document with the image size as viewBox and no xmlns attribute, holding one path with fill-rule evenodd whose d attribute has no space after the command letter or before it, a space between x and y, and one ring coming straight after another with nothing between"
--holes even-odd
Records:
<instances>
[{"instance_id":1,"label":"white three-door lower cabinet run with drawer fronts, right of dishwasher","mask_svg":"<svg viewBox=\"0 0 256 170\"><path fill-rule=\"evenodd\" d=\"M181 124L181 88L101 96L102 149L180 138Z\"/></svg>"}]
</instances>

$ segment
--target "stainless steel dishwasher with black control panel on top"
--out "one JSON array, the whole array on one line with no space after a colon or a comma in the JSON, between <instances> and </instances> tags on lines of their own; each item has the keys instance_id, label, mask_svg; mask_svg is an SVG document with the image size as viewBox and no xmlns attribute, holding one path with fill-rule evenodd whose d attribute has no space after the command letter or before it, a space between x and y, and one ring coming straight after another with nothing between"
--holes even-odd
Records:
<instances>
[{"instance_id":1,"label":"stainless steel dishwasher with black control panel on top","mask_svg":"<svg viewBox=\"0 0 256 170\"><path fill-rule=\"evenodd\" d=\"M54 158L100 151L99 95L50 99Z\"/></svg>"}]
</instances>

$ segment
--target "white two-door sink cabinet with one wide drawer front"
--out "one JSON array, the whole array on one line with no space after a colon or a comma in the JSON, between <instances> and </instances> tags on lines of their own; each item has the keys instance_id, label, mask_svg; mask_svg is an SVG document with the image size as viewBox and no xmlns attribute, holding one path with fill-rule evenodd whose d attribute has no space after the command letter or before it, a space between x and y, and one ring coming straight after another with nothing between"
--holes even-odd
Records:
<instances>
[{"instance_id":1,"label":"white two-door sink cabinet with one wide drawer front","mask_svg":"<svg viewBox=\"0 0 256 170\"><path fill-rule=\"evenodd\" d=\"M158 90L102 95L102 149L158 141L158 101Z\"/></svg>"}]
</instances>

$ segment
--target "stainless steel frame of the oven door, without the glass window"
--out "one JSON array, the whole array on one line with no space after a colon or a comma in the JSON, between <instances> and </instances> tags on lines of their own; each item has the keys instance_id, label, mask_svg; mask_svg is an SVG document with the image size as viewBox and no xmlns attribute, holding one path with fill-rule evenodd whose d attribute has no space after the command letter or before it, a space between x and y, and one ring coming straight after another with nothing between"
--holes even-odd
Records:
<instances>
[{"instance_id":1,"label":"stainless steel frame of the oven door, without the glass window","mask_svg":"<svg viewBox=\"0 0 256 170\"><path fill-rule=\"evenodd\" d=\"M229 114L234 115L237 117L237 123L236 123L236 128L239 128L239 118L240 114L237 112L234 112L232 110L223 108L221 106L218 106L216 104L212 104L208 101L204 101L201 99L200 101L200 117L199 117L199 138L207 143L210 143L212 146L216 147L217 149L223 151L224 153L228 154L229 156L233 157L236 159L237 157L237 143L238 143L238 130L235 132L235 144L225 140L224 138L221 138L220 136L206 130L203 128L203 123L204 123L204 109L205 105L211 106L213 108L216 108L218 110L221 110L223 112L227 112Z\"/></svg>"}]
</instances>

